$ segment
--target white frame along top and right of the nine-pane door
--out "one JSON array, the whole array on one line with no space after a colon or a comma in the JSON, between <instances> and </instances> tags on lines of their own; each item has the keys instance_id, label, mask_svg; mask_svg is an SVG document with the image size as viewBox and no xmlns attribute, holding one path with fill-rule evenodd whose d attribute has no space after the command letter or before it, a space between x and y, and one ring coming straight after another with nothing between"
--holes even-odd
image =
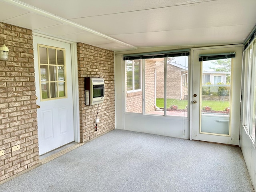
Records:
<instances>
[{"instance_id":1,"label":"white frame along top and right of the nine-pane door","mask_svg":"<svg viewBox=\"0 0 256 192\"><path fill-rule=\"evenodd\" d=\"M57 40L70 44L71 49L71 68L72 68L72 94L73 94L73 113L74 113L74 142L80 143L80 115L79 115L79 88L78 88L78 62L76 42L47 36L33 32L33 36L40 36L51 40ZM34 58L36 59L36 58Z\"/></svg>"}]
</instances>

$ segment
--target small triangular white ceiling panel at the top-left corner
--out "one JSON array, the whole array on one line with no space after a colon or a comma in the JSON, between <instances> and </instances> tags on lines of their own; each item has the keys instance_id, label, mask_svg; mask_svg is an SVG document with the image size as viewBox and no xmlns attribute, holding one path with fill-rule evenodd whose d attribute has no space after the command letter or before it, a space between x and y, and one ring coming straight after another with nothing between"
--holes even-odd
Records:
<instances>
[{"instance_id":1,"label":"small triangular white ceiling panel at the top-left corner","mask_svg":"<svg viewBox=\"0 0 256 192\"><path fill-rule=\"evenodd\" d=\"M0 2L0 21L14 18L26 13L28 13L28 11L20 9L16 6L10 5L5 2Z\"/></svg>"}]
</instances>

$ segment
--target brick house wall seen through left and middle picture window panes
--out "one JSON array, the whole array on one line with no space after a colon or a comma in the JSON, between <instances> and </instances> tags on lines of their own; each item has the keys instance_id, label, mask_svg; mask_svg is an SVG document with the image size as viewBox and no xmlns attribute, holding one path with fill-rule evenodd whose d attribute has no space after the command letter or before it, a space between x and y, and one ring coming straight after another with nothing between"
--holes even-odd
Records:
<instances>
[{"instance_id":1,"label":"brick house wall seen through left and middle picture window panes","mask_svg":"<svg viewBox=\"0 0 256 192\"><path fill-rule=\"evenodd\" d=\"M154 79L156 62L145 60L145 110L154 111ZM125 78L126 79L126 78ZM126 93L126 112L142 113L142 91Z\"/></svg>"}]
</instances>

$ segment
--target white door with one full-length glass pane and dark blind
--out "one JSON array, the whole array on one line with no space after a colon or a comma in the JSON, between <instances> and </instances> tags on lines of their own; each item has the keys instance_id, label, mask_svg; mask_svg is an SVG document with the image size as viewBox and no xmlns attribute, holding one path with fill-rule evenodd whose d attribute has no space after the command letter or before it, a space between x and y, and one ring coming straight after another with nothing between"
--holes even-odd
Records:
<instances>
[{"instance_id":1,"label":"white door with one full-length glass pane and dark blind","mask_svg":"<svg viewBox=\"0 0 256 192\"><path fill-rule=\"evenodd\" d=\"M191 53L192 139L239 145L242 46Z\"/></svg>"}]
</instances>

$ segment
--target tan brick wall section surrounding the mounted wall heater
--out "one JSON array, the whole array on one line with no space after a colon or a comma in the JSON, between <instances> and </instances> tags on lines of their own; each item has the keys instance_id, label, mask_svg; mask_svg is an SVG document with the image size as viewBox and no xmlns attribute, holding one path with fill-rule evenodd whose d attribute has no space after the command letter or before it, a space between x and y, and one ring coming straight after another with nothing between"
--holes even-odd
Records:
<instances>
[{"instance_id":1,"label":"tan brick wall section surrounding the mounted wall heater","mask_svg":"<svg viewBox=\"0 0 256 192\"><path fill-rule=\"evenodd\" d=\"M86 142L115 129L114 52L83 43L77 44L77 52L80 141ZM99 104L97 131L94 129L98 105L85 105L84 77L100 77L105 81L105 100Z\"/></svg>"}]
</instances>

